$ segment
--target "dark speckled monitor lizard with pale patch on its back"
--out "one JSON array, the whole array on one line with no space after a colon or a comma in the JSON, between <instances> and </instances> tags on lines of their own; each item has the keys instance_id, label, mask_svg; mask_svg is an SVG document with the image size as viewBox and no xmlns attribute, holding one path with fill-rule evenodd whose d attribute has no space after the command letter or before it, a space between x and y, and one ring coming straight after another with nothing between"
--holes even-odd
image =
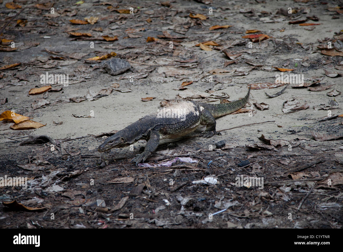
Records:
<instances>
[{"instance_id":1,"label":"dark speckled monitor lizard with pale patch on its back","mask_svg":"<svg viewBox=\"0 0 343 252\"><path fill-rule=\"evenodd\" d=\"M209 138L213 135L221 135L215 130L215 118L228 115L242 108L247 103L249 94L250 87L248 94L243 99L230 103L211 105L186 101L165 109L166 111L169 109L174 114L182 109L179 116L171 116L167 112L165 114L160 112L147 115L118 131L113 136L107 137L105 142L98 147L98 151L105 152L111 148L129 146L138 140L144 139L147 141L144 152L131 161L137 166L156 151L160 139L173 139L184 136L196 130L200 124L206 125L205 131L200 134L201 137Z\"/></svg>"}]
</instances>

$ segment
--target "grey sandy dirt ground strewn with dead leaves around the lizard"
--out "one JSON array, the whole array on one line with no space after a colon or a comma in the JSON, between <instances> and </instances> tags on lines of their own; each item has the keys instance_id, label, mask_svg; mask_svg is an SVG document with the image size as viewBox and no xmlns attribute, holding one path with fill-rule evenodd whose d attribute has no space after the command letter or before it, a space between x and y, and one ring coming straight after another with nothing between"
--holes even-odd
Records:
<instances>
[{"instance_id":1,"label":"grey sandy dirt ground strewn with dead leaves around the lizard","mask_svg":"<svg viewBox=\"0 0 343 252\"><path fill-rule=\"evenodd\" d=\"M342 2L0 2L0 113L44 124L14 130L0 121L0 176L27 178L27 189L0 183L0 227L342 227ZM70 22L89 17L98 19ZM131 68L110 75L102 68L110 58L90 60L111 52ZM42 83L46 73L68 75L68 85ZM217 131L247 126L161 141L151 167L131 164L144 141L97 152L104 136L164 105L233 101L249 85L246 107L216 120ZM41 135L50 142L24 142ZM176 157L195 162L154 167ZM193 183L208 176L217 183ZM251 177L263 189L237 186Z\"/></svg>"}]
</instances>

